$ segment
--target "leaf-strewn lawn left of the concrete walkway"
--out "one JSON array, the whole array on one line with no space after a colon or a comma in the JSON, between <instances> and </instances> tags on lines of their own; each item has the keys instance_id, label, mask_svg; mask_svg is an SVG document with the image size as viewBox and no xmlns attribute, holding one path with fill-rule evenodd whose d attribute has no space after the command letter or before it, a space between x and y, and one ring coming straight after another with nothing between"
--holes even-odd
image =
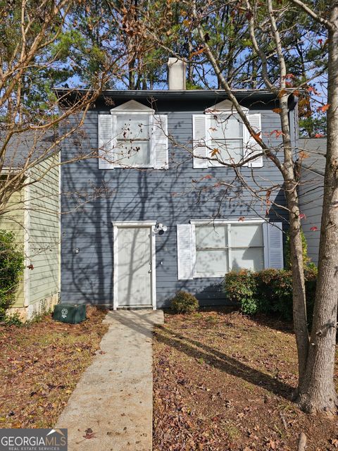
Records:
<instances>
[{"instance_id":1,"label":"leaf-strewn lawn left of the concrete walkway","mask_svg":"<svg viewBox=\"0 0 338 451\"><path fill-rule=\"evenodd\" d=\"M106 312L65 324L46 315L27 326L0 326L0 428L49 428L92 362L108 326Z\"/></svg>"}]
</instances>

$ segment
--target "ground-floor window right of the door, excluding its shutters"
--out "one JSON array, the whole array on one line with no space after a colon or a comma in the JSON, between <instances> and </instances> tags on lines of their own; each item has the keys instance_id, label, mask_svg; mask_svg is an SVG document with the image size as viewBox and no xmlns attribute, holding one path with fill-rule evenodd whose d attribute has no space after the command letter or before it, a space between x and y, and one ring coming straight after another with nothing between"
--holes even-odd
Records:
<instances>
[{"instance_id":1,"label":"ground-floor window right of the door, excluding its shutters","mask_svg":"<svg viewBox=\"0 0 338 451\"><path fill-rule=\"evenodd\" d=\"M195 277L223 277L228 271L264 268L263 224L208 224L195 230Z\"/></svg>"}]
</instances>

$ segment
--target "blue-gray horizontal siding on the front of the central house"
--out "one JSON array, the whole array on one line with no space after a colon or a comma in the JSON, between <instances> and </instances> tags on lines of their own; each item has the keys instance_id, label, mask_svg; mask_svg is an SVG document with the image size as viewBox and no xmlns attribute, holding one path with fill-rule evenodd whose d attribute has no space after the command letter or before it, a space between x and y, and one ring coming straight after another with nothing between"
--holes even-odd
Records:
<instances>
[{"instance_id":1,"label":"blue-gray horizontal siding on the front of the central house","mask_svg":"<svg viewBox=\"0 0 338 451\"><path fill-rule=\"evenodd\" d=\"M202 299L202 304L224 302L220 292L221 278L177 280L176 225L188 223L190 219L213 218L216 215L218 218L264 216L266 204L264 191L261 192L261 200L253 200L251 194L240 189L236 183L231 192L226 187L213 187L219 181L234 180L231 168L192 168L192 159L186 150L192 149L192 114L201 114L213 104L213 99L208 104L198 104L196 101L193 104L161 104L158 101L157 111L168 114L168 133L176 144L173 145L171 140L169 142L168 170L99 170L96 159L63 166L61 205L62 210L68 213L61 216L62 302L113 304L112 221L146 220L159 221L168 226L164 235L156 236L157 306L168 305L168 299L182 289L195 293ZM263 139L282 152L280 139L270 136L270 132L280 129L279 115L273 113L273 105L261 105L263 103L256 102L256 108L250 111L262 113ZM190 111L192 107L194 109ZM63 159L75 157L79 149L97 148L97 115L107 112L108 109L89 111L81 147L78 143L75 145L74 139L64 142ZM256 183L262 187L270 187L271 181L282 185L280 173L266 159L263 168L253 168L253 174L255 182L251 169L242 169L242 175L254 189L257 188ZM202 180L205 175L212 178ZM99 187L101 196L94 199ZM201 188L203 190L199 192ZM282 190L273 192L271 198L281 206L285 204ZM269 216L281 221L285 211L276 207ZM75 247L80 249L78 254L73 252Z\"/></svg>"}]
</instances>

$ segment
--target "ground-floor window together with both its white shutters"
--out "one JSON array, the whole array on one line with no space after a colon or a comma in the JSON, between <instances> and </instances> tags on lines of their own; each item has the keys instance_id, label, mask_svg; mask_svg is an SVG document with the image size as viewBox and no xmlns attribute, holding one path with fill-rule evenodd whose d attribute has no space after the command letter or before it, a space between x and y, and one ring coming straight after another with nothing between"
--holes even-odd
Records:
<instances>
[{"instance_id":1,"label":"ground-floor window together with both its white shutters","mask_svg":"<svg viewBox=\"0 0 338 451\"><path fill-rule=\"evenodd\" d=\"M283 267L282 224L262 220L177 225L178 278L224 277L229 271Z\"/></svg>"}]
</instances>

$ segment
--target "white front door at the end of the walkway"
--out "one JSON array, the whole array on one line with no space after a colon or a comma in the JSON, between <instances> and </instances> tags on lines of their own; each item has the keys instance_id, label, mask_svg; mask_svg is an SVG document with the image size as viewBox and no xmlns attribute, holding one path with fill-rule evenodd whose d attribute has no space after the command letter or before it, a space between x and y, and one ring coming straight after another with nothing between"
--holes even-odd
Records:
<instances>
[{"instance_id":1,"label":"white front door at the end of the walkway","mask_svg":"<svg viewBox=\"0 0 338 451\"><path fill-rule=\"evenodd\" d=\"M118 227L114 265L118 307L152 307L151 235L151 227Z\"/></svg>"}]
</instances>

